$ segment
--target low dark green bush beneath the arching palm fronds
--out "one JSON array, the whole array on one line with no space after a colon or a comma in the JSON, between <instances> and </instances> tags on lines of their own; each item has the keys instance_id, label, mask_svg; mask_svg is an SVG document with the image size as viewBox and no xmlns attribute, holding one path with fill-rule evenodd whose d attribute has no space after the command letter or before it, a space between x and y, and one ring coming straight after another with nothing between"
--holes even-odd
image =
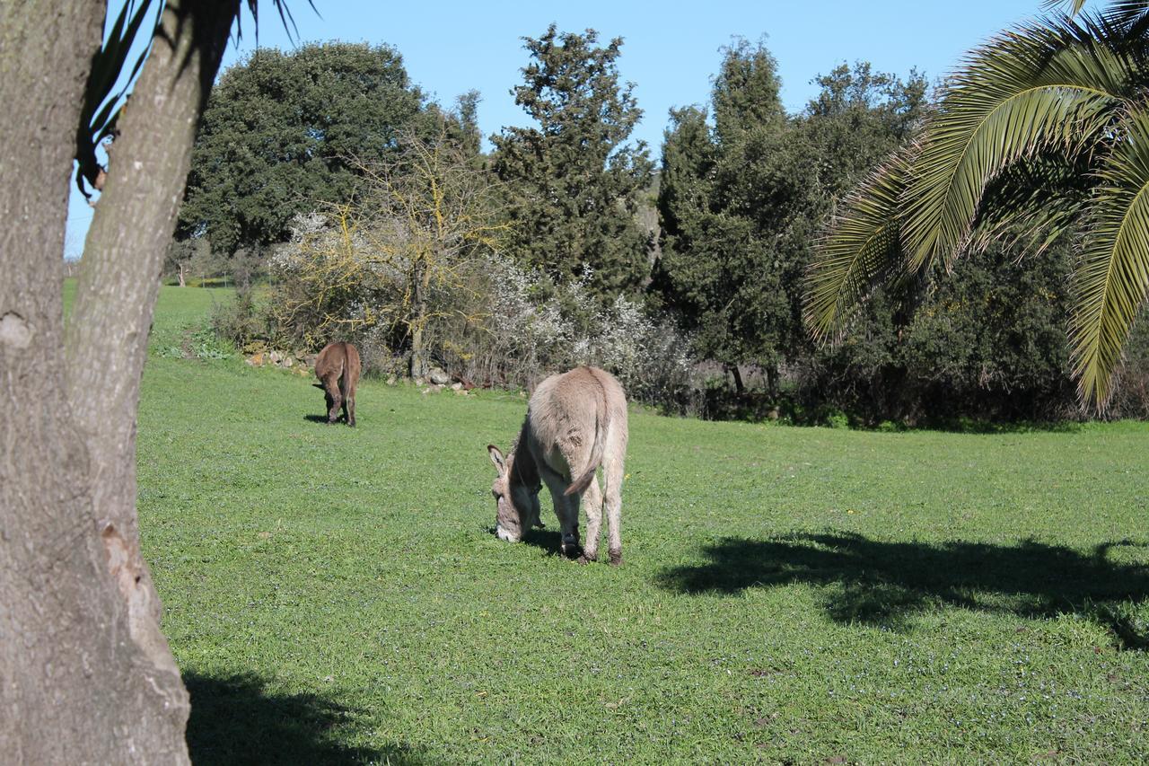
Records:
<instances>
[{"instance_id":1,"label":"low dark green bush beneath the arching palm fronds","mask_svg":"<svg viewBox=\"0 0 1149 766\"><path fill-rule=\"evenodd\" d=\"M1023 261L992 245L934 275L912 311L879 291L841 343L803 362L797 398L807 416L828 407L870 426L1064 418L1074 408L1069 245Z\"/></svg>"}]
</instances>

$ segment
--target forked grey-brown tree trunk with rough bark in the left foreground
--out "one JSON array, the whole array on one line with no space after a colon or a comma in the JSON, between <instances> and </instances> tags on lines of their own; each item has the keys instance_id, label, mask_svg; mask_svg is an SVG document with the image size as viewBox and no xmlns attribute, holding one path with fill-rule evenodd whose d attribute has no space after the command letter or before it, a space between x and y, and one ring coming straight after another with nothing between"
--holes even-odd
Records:
<instances>
[{"instance_id":1,"label":"forked grey-brown tree trunk with rough bark in the left foreground","mask_svg":"<svg viewBox=\"0 0 1149 766\"><path fill-rule=\"evenodd\" d=\"M136 405L195 123L237 9L168 0L119 122L64 340L69 176L103 7L0 1L5 761L187 763L187 692L139 550Z\"/></svg>"}]
</instances>

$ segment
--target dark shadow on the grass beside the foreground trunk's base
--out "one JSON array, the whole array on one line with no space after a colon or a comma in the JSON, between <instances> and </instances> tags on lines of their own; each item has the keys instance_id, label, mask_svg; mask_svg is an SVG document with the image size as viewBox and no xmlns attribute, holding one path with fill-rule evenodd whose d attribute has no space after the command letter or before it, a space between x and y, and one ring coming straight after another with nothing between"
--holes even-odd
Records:
<instances>
[{"instance_id":1,"label":"dark shadow on the grass beside the foreground trunk's base","mask_svg":"<svg viewBox=\"0 0 1149 766\"><path fill-rule=\"evenodd\" d=\"M250 674L185 673L192 696L187 749L206 764L424 764L403 744L345 744L357 711L315 694L276 694Z\"/></svg>"}]
</instances>

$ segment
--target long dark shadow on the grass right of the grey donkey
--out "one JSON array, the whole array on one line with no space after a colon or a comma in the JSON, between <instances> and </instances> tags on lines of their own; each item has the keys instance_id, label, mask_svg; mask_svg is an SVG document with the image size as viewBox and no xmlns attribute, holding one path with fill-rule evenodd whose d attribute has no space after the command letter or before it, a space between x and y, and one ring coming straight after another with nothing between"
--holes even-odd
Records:
<instances>
[{"instance_id":1,"label":"long dark shadow on the grass right of the grey donkey","mask_svg":"<svg viewBox=\"0 0 1149 766\"><path fill-rule=\"evenodd\" d=\"M826 585L833 620L888 627L939 605L1030 618L1075 612L1111 630L1123 649L1147 650L1149 628L1129 602L1149 597L1149 567L1113 560L1115 553L1146 547L1120 541L1084 554L1034 541L903 543L842 531L725 538L703 549L708 564L666 569L658 581L681 593Z\"/></svg>"}]
</instances>

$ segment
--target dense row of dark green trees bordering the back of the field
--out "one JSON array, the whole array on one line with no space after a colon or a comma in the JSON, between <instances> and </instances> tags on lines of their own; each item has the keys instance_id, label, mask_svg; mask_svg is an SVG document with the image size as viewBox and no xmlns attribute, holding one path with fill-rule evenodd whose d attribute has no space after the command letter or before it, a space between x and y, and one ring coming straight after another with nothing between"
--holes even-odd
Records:
<instances>
[{"instance_id":1,"label":"dense row of dark green trees bordering the back of the field","mask_svg":"<svg viewBox=\"0 0 1149 766\"><path fill-rule=\"evenodd\" d=\"M452 109L427 101L386 46L261 51L232 68L205 113L173 267L183 253L202 269L206 253L214 253L242 276L253 258L291 239L293 220L319 212L330 222L344 206L360 210L356 231L376 232L370 244L361 236L365 250L347 251L346 262L408 268L379 253L407 252L414 239L383 242L384 228L369 225L363 210L379 173L402 173L401 145L409 153L421 143L447 141L460 163L452 173L465 166L487 186L481 210L461 230L478 225L499 236L484 240L480 265L442 260L454 289L437 292L429 283L416 291L417 305L433 296L433 309L424 306L412 324L398 308L407 298L385 301L390 309L364 309L353 288L340 309L346 315L317 315L315 327L303 329L296 315L290 329L259 331L248 317L245 332L233 335L314 345L332 328L357 328L380 367L425 370L433 360L475 374L465 360L484 358L494 382L524 384L527 359L630 359L633 366L642 358L650 369L629 373L641 386L643 376L658 377L655 368L683 369L688 354L693 377L676 375L671 385L662 375L645 390L657 391L670 408L709 416L874 424L1077 412L1064 342L1069 233L1046 243L1040 261L1018 262L1018 243L1026 242L1018 232L981 247L947 279L940 271L894 279L842 325L840 343L811 339L804 312L816 246L850 190L912 145L936 108L923 76L897 77L864 62L838 66L817 78L820 90L804 109L788 114L769 49L735 39L720 52L710 102L671 110L655 173L648 148L630 141L642 113L633 85L619 79L620 39L601 44L593 30L564 33L552 25L524 44L529 61L514 93L529 121L492 136L489 155L476 127L478 94L461 97ZM457 252L475 261L480 250ZM294 273L302 274L292 253ZM364 294L410 293L399 283L380 286L380 274L372 271ZM512 312L509 294L516 296ZM594 355L589 350L601 344L572 340L589 337L592 327L602 336L609 316L630 316L638 305L650 327L664 328L642 337L665 353L608 344L609 353ZM385 321L386 311L394 315ZM265 319L275 325L283 314L270 311ZM556 357L516 346L496 361L472 327L484 317L488 334L511 323L534 343L569 348ZM391 329L380 335L385 324ZM1134 362L1146 355L1139 353L1133 348ZM404 361L387 362L388 355ZM1147 378L1138 363L1123 373L1129 391L1143 390ZM1143 398L1118 397L1117 412L1140 414Z\"/></svg>"}]
</instances>

